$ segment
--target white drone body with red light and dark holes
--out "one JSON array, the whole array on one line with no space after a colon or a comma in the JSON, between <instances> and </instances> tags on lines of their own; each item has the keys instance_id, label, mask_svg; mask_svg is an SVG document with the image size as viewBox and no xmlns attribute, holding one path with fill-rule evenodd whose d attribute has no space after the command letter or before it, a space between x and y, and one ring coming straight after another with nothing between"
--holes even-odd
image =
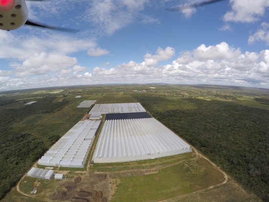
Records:
<instances>
[{"instance_id":1,"label":"white drone body with red light and dark holes","mask_svg":"<svg viewBox=\"0 0 269 202\"><path fill-rule=\"evenodd\" d=\"M25 24L27 17L25 0L0 0L0 29L18 29Z\"/></svg>"}]
</instances>

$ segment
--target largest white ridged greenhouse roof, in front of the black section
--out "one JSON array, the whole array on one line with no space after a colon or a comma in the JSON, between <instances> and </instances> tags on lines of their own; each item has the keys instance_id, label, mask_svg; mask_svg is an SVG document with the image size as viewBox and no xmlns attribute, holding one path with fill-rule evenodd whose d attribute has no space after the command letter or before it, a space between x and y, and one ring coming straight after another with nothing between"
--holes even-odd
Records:
<instances>
[{"instance_id":1,"label":"largest white ridged greenhouse roof, in front of the black section","mask_svg":"<svg viewBox=\"0 0 269 202\"><path fill-rule=\"evenodd\" d=\"M191 152L155 118L106 120L93 154L95 163L123 162Z\"/></svg>"}]
</instances>

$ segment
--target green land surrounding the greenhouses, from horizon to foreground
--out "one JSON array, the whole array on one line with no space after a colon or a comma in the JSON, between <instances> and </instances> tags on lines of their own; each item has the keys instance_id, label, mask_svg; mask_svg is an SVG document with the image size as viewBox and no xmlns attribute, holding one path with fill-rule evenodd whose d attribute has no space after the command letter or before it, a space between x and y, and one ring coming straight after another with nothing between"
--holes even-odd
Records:
<instances>
[{"instance_id":1,"label":"green land surrounding the greenhouses, from horizon to foreground","mask_svg":"<svg viewBox=\"0 0 269 202\"><path fill-rule=\"evenodd\" d=\"M82 169L55 168L66 180L22 177L90 111L76 108L83 100L140 102L192 145L193 152L116 164L87 162ZM30 101L38 102L24 105ZM0 92L0 114L3 202L86 202L96 200L98 191L97 200L112 202L269 200L267 89L120 85L6 91ZM30 194L33 187L36 194Z\"/></svg>"}]
</instances>

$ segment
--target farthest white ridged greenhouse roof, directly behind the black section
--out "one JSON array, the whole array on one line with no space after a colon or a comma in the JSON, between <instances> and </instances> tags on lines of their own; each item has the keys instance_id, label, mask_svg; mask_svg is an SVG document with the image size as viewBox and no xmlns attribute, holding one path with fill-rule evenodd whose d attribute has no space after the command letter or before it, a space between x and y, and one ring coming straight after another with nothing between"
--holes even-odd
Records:
<instances>
[{"instance_id":1,"label":"farthest white ridged greenhouse roof, directly behind the black section","mask_svg":"<svg viewBox=\"0 0 269 202\"><path fill-rule=\"evenodd\" d=\"M143 106L138 103L110 103L95 104L89 114L93 113L127 113L127 112L146 112Z\"/></svg>"}]
</instances>

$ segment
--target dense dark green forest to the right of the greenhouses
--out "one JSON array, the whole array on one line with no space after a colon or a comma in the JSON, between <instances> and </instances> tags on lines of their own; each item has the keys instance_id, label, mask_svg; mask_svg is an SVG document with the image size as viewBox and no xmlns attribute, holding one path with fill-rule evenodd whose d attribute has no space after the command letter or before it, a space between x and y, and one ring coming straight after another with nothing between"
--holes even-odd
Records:
<instances>
[{"instance_id":1,"label":"dense dark green forest to the right of the greenhouses","mask_svg":"<svg viewBox=\"0 0 269 202\"><path fill-rule=\"evenodd\" d=\"M244 188L269 201L269 110L196 98L134 97ZM164 103L178 109L165 109ZM186 103L194 109L180 109Z\"/></svg>"}]
</instances>

